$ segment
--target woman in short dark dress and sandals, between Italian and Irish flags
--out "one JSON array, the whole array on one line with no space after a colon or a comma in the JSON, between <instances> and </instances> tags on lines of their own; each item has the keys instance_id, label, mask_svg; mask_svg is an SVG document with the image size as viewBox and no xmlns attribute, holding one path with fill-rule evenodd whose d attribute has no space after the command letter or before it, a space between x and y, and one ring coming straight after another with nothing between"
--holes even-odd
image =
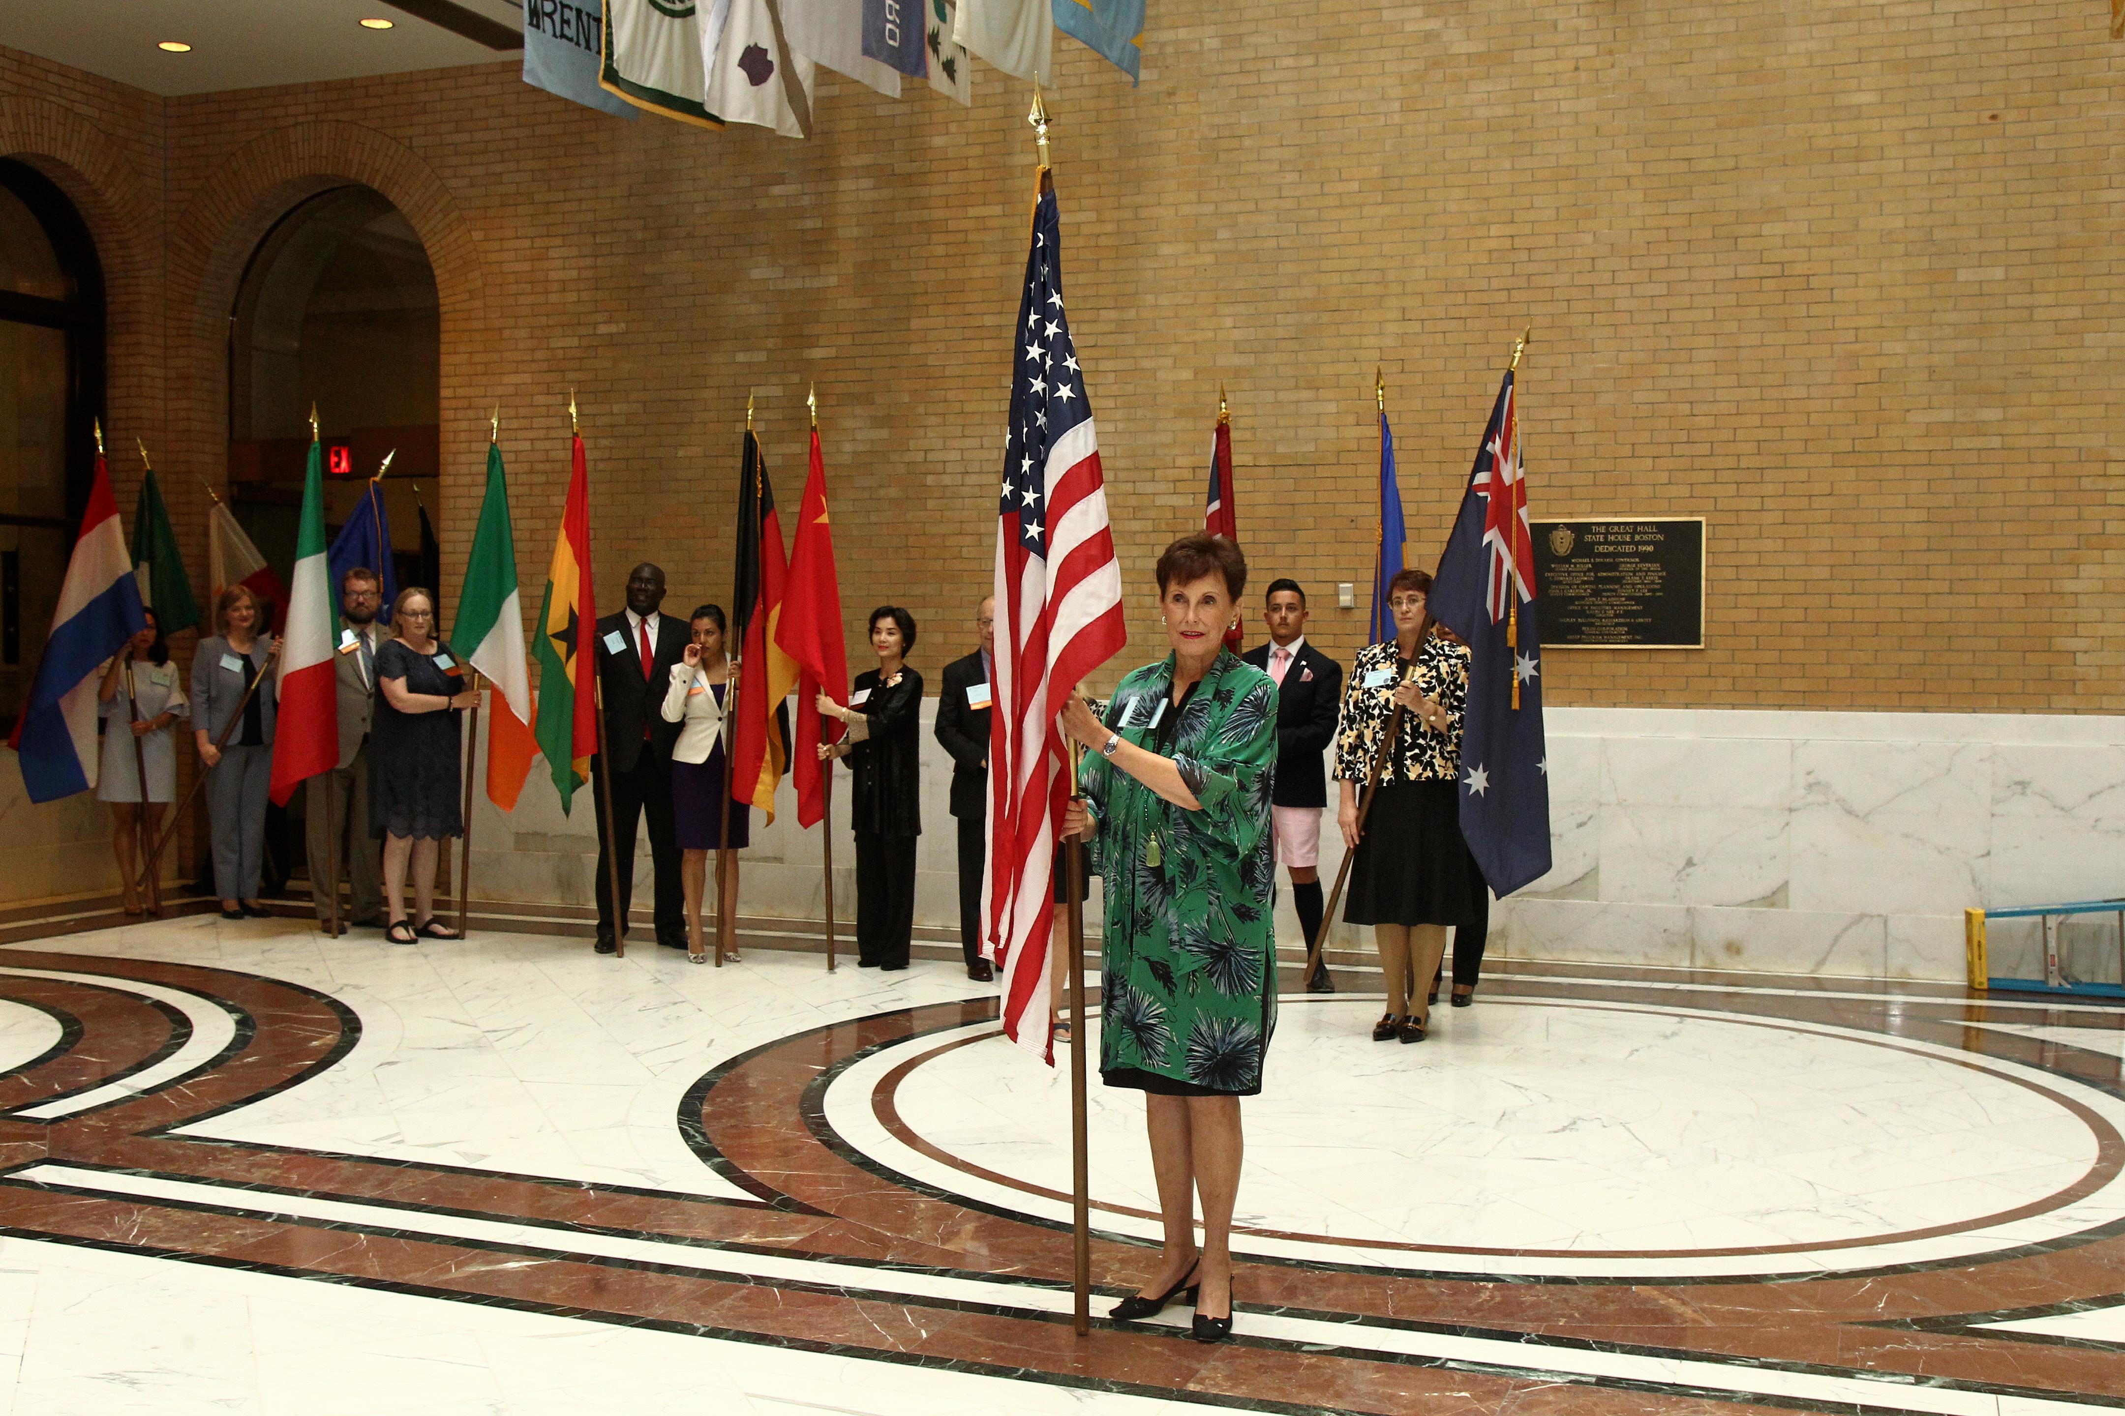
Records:
<instances>
[{"instance_id":1,"label":"woman in short dark dress and sandals, between Italian and Irish flags","mask_svg":"<svg viewBox=\"0 0 2125 1416\"><path fill-rule=\"evenodd\" d=\"M391 603L395 639L376 650L376 713L370 720L370 834L385 843L385 938L457 938L436 919L436 858L465 834L457 805L457 715L480 701L465 669L436 635L436 601L408 586ZM412 866L414 921L406 921Z\"/></svg>"}]
</instances>

